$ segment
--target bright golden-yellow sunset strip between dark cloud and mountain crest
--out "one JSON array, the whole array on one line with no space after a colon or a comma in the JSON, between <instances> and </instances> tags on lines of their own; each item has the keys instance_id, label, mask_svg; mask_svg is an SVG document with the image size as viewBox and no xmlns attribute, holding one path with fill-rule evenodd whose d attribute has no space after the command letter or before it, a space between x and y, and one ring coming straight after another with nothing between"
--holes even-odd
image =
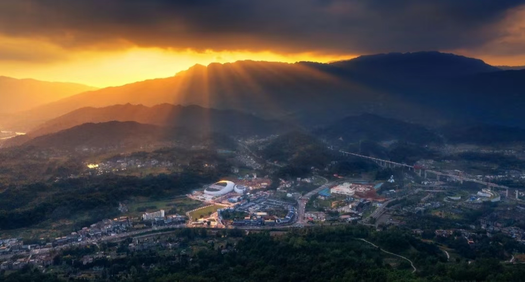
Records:
<instances>
[{"instance_id":1,"label":"bright golden-yellow sunset strip between dark cloud and mountain crest","mask_svg":"<svg viewBox=\"0 0 525 282\"><path fill-rule=\"evenodd\" d=\"M53 46L42 45L42 51L56 54ZM47 49L46 49L47 48ZM130 48L116 51L80 50L53 62L4 62L0 74L14 78L47 81L69 81L95 87L119 86L146 79L174 76L195 64L237 60L316 61L351 59L355 55L330 56L314 53L282 55L271 51L171 50L161 48Z\"/></svg>"}]
</instances>

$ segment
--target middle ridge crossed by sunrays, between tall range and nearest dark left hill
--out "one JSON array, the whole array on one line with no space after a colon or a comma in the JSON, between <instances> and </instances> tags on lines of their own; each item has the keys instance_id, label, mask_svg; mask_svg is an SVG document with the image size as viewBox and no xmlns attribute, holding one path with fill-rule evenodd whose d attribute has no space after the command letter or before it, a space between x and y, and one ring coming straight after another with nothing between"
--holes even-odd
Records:
<instances>
[{"instance_id":1,"label":"middle ridge crossed by sunrays, between tall range and nearest dark left hill","mask_svg":"<svg viewBox=\"0 0 525 282\"><path fill-rule=\"evenodd\" d=\"M268 135L288 130L289 126L234 110L207 109L199 106L174 106L161 104L153 107L143 105L114 105L103 108L81 108L49 120L28 132L35 138L83 123L108 121L135 121L157 126L185 127L201 132L222 132L229 135Z\"/></svg>"}]
</instances>

